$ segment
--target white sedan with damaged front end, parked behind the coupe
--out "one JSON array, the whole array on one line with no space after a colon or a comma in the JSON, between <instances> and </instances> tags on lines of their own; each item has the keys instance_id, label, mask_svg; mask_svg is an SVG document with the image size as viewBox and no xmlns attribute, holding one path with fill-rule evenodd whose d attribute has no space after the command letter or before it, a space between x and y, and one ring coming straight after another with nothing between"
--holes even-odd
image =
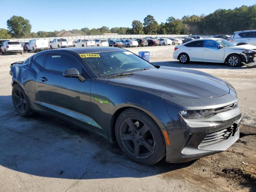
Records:
<instances>
[{"instance_id":1,"label":"white sedan with damaged front end, parked behind the coupe","mask_svg":"<svg viewBox=\"0 0 256 192\"><path fill-rule=\"evenodd\" d=\"M182 64L190 61L226 63L231 67L254 66L256 64L256 46L236 46L220 38L192 40L175 46L173 58Z\"/></svg>"}]
</instances>

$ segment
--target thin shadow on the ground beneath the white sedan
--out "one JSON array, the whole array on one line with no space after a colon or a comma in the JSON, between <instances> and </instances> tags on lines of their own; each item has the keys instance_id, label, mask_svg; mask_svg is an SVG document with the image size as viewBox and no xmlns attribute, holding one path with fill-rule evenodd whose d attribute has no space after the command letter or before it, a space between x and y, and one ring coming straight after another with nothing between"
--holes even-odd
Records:
<instances>
[{"instance_id":1,"label":"thin shadow on the ground beneath the white sedan","mask_svg":"<svg viewBox=\"0 0 256 192\"><path fill-rule=\"evenodd\" d=\"M188 64L181 64L178 60L171 61L156 61L152 62L154 65L158 66L168 66L168 67L177 67L177 68L195 68L195 69L246 69L247 66L241 67L230 67L224 63L209 63L209 62L189 62Z\"/></svg>"}]
</instances>

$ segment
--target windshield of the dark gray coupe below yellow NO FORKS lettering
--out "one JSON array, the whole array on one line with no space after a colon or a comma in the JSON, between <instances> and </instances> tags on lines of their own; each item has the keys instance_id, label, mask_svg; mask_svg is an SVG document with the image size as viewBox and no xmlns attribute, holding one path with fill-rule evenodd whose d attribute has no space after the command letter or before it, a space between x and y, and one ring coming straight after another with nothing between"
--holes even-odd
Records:
<instances>
[{"instance_id":1,"label":"windshield of the dark gray coupe below yellow NO FORKS lettering","mask_svg":"<svg viewBox=\"0 0 256 192\"><path fill-rule=\"evenodd\" d=\"M93 53L97 57L82 58L98 78L115 74L132 73L143 68L155 68L146 60L129 51L108 51Z\"/></svg>"}]
</instances>

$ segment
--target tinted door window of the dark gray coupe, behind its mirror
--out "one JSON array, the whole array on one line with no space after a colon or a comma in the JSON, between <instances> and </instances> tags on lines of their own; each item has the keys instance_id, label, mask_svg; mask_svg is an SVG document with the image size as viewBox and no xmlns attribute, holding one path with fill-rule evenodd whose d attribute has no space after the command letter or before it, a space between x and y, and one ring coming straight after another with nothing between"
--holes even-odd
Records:
<instances>
[{"instance_id":1,"label":"tinted door window of the dark gray coupe, behind its mirror","mask_svg":"<svg viewBox=\"0 0 256 192\"><path fill-rule=\"evenodd\" d=\"M64 72L70 68L77 68L78 71L81 71L80 64L71 56L64 54L49 54L47 56L45 69Z\"/></svg>"}]
</instances>

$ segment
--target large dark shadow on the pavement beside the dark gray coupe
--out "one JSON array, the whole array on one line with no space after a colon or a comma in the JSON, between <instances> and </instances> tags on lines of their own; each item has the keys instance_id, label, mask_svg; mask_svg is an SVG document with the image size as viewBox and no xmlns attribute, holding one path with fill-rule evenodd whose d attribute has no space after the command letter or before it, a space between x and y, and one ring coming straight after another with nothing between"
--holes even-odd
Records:
<instances>
[{"instance_id":1,"label":"large dark shadow on the pavement beside the dark gray coupe","mask_svg":"<svg viewBox=\"0 0 256 192\"><path fill-rule=\"evenodd\" d=\"M144 166L126 157L117 143L62 119L18 115L11 96L0 96L0 165L35 176L67 179L142 178L194 163L161 160Z\"/></svg>"}]
</instances>

